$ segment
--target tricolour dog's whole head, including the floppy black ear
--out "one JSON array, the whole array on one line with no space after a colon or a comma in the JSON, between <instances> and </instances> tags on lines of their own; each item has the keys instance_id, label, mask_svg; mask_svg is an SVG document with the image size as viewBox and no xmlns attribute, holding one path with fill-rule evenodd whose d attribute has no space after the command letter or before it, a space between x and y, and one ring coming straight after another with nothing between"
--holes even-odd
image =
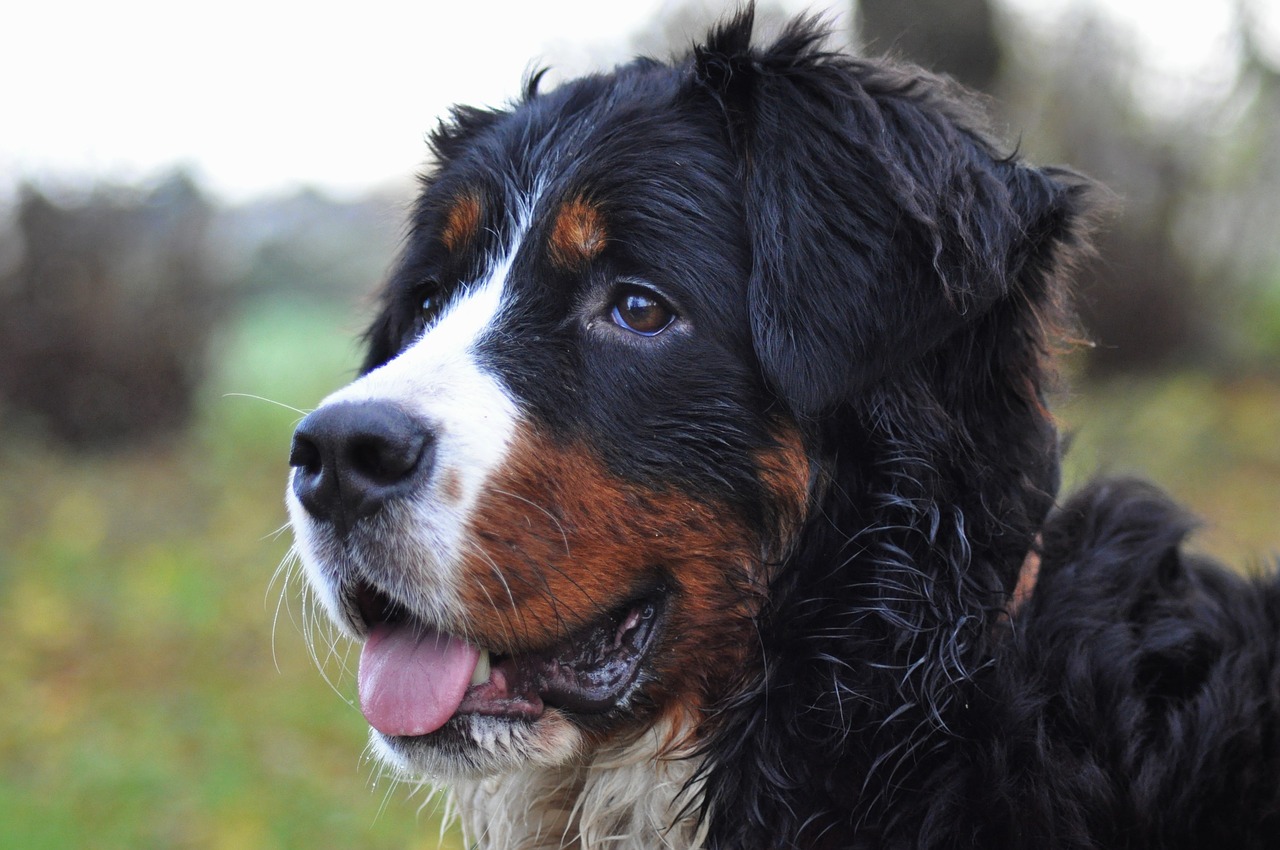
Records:
<instances>
[{"instance_id":1,"label":"tricolour dog's whole head, including the floppy black ear","mask_svg":"<svg viewBox=\"0 0 1280 850\"><path fill-rule=\"evenodd\" d=\"M749 36L433 136L364 374L298 428L288 492L407 768L700 737L812 586L865 595L916 489L965 490L955 568L1011 586L1056 486L1042 323L1076 192L938 81L805 23ZM893 544L924 576L932 522Z\"/></svg>"}]
</instances>

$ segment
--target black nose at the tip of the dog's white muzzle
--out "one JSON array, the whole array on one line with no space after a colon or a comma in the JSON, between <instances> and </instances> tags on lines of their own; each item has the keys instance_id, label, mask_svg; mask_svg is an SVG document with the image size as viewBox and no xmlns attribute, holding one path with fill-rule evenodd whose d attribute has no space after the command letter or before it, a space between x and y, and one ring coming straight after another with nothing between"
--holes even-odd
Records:
<instances>
[{"instance_id":1,"label":"black nose at the tip of the dog's white muzzle","mask_svg":"<svg viewBox=\"0 0 1280 850\"><path fill-rule=\"evenodd\" d=\"M430 429L396 405L339 402L302 420L293 433L293 492L317 520L347 536L430 474Z\"/></svg>"}]
</instances>

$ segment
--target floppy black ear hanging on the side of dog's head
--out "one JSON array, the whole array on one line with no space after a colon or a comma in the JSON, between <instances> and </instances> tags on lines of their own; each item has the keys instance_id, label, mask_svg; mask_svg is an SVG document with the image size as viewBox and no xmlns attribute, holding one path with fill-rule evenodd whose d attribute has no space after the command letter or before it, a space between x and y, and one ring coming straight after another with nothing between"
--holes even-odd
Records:
<instances>
[{"instance_id":1,"label":"floppy black ear hanging on the side of dog's head","mask_svg":"<svg viewBox=\"0 0 1280 850\"><path fill-rule=\"evenodd\" d=\"M998 157L943 81L826 52L813 20L750 32L750 10L714 31L694 73L741 163L756 352L815 416L1048 274L1078 202Z\"/></svg>"}]
</instances>

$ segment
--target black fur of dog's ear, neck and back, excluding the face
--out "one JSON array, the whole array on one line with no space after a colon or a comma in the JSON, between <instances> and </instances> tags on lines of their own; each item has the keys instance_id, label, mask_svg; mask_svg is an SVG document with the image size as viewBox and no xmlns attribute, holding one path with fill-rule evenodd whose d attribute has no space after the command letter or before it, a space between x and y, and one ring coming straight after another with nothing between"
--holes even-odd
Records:
<instances>
[{"instance_id":1,"label":"black fur of dog's ear, neck and back, excluding the face","mask_svg":"<svg viewBox=\"0 0 1280 850\"><path fill-rule=\"evenodd\" d=\"M746 163L756 349L832 481L704 748L713 846L1280 845L1275 580L1181 554L1140 484L1046 520L1085 184L813 41L737 20L698 55ZM1034 600L993 625L1037 533Z\"/></svg>"}]
</instances>

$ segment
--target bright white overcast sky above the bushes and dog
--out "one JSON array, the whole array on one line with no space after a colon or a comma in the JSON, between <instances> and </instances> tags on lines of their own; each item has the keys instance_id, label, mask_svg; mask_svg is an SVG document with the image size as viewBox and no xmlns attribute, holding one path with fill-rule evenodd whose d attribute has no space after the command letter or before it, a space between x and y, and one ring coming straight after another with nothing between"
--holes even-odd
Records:
<instances>
[{"instance_id":1,"label":"bright white overcast sky above the bushes and dog","mask_svg":"<svg viewBox=\"0 0 1280 850\"><path fill-rule=\"evenodd\" d=\"M577 73L626 55L669 1L6 4L0 195L22 177L137 179L174 163L232 200L403 180L449 104L503 102L532 61ZM1009 0L1043 22L1073 1ZM1229 0L1083 1L1114 10L1158 73L1203 77L1230 55Z\"/></svg>"}]
</instances>

